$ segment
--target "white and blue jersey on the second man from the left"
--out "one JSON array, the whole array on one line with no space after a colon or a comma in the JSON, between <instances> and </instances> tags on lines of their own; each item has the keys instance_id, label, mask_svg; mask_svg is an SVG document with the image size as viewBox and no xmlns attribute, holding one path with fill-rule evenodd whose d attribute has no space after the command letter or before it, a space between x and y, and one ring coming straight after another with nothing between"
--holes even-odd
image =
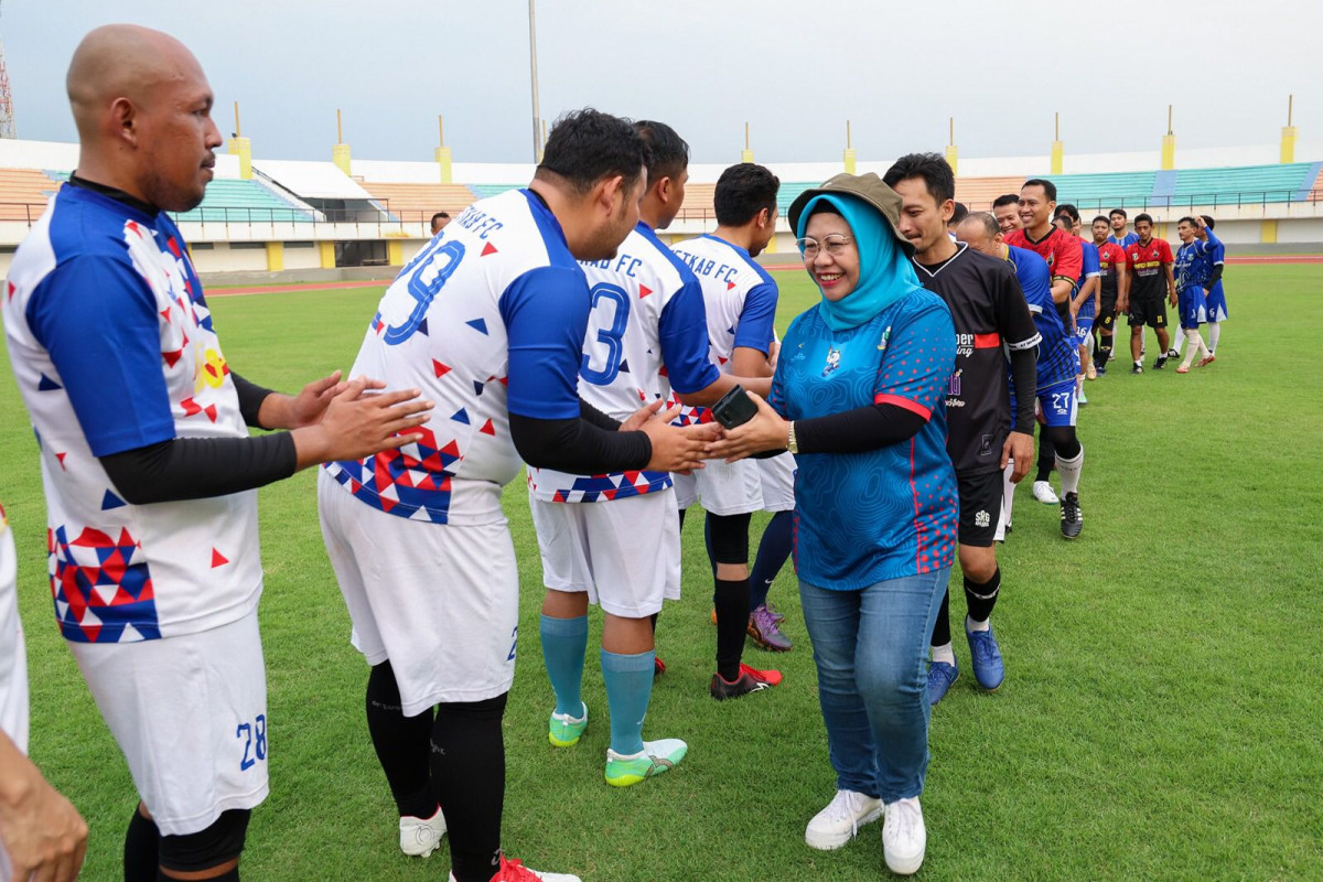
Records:
<instances>
[{"instance_id":1,"label":"white and blue jersey on the second man from the left","mask_svg":"<svg viewBox=\"0 0 1323 882\"><path fill-rule=\"evenodd\" d=\"M422 440L328 463L360 501L454 525L504 522L500 489L520 467L509 414L578 419L587 325L583 270L550 209L516 189L470 205L381 298L351 376L422 389Z\"/></svg>"}]
</instances>

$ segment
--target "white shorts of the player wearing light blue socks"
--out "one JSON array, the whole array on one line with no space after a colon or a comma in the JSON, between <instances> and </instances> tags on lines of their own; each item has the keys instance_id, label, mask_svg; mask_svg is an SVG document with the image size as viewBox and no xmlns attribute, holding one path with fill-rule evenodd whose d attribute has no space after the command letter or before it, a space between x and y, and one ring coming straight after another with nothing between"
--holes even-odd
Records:
<instances>
[{"instance_id":1,"label":"white shorts of the player wearing light blue socks","mask_svg":"<svg viewBox=\"0 0 1323 882\"><path fill-rule=\"evenodd\" d=\"M542 553L542 583L622 619L643 619L680 599L680 516L665 489L610 502L528 497Z\"/></svg>"}]
</instances>

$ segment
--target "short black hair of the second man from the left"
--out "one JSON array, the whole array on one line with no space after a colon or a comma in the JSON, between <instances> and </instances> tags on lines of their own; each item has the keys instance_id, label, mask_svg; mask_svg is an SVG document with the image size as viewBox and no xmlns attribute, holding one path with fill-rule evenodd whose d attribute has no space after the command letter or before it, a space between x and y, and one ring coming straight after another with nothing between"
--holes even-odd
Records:
<instances>
[{"instance_id":1,"label":"short black hair of the second man from the left","mask_svg":"<svg viewBox=\"0 0 1323 882\"><path fill-rule=\"evenodd\" d=\"M617 175L628 189L650 160L648 145L630 120L585 107L556 120L537 171L564 179L578 193Z\"/></svg>"}]
</instances>

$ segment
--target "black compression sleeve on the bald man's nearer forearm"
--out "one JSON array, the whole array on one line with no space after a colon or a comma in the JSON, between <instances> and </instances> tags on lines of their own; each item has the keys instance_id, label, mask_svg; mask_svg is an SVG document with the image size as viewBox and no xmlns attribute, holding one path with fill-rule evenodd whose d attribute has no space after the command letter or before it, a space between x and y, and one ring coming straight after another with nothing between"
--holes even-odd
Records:
<instances>
[{"instance_id":1,"label":"black compression sleeve on the bald man's nearer forearm","mask_svg":"<svg viewBox=\"0 0 1323 882\"><path fill-rule=\"evenodd\" d=\"M298 458L290 432L257 438L176 438L122 454L101 464L119 495L134 505L228 496L294 473Z\"/></svg>"}]
</instances>

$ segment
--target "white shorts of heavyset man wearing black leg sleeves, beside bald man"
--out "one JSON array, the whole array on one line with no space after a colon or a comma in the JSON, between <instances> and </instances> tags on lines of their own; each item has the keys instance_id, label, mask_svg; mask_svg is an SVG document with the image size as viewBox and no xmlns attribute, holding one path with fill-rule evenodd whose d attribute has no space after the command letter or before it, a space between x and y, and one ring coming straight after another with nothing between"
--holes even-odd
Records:
<instances>
[{"instance_id":1,"label":"white shorts of heavyset man wearing black leg sleeves, beside bald man","mask_svg":"<svg viewBox=\"0 0 1323 882\"><path fill-rule=\"evenodd\" d=\"M509 692L519 571L507 522L396 517L320 472L321 538L349 607L351 641L369 665L390 660L405 717Z\"/></svg>"}]
</instances>

